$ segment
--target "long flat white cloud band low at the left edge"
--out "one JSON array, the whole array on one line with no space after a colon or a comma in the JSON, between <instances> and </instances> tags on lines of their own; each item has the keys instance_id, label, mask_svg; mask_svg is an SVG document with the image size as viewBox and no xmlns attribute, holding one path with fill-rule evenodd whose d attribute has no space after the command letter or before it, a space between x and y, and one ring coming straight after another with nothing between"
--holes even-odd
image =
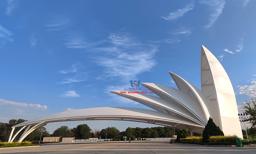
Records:
<instances>
[{"instance_id":1,"label":"long flat white cloud band low at the left edge","mask_svg":"<svg viewBox=\"0 0 256 154\"><path fill-rule=\"evenodd\" d=\"M19 102L12 102L4 99L0 99L0 105L12 105L12 106L20 106L20 107L31 107L34 109L43 109L46 110L46 105L40 105L40 104L27 104L27 103L19 103Z\"/></svg>"}]
</instances>

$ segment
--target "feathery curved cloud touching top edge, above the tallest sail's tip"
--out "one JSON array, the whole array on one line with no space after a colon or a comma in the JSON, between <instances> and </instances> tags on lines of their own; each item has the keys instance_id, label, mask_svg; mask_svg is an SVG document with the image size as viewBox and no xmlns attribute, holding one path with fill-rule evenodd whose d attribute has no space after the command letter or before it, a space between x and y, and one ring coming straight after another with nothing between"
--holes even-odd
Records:
<instances>
[{"instance_id":1,"label":"feathery curved cloud touching top edge, above the tallest sail's tip","mask_svg":"<svg viewBox=\"0 0 256 154\"><path fill-rule=\"evenodd\" d=\"M209 10L211 11L209 23L206 24L203 28L209 29L212 27L212 25L215 23L215 21L218 19L220 14L222 13L222 10L224 9L224 5L226 4L225 0L201 0L201 4L205 4L209 7Z\"/></svg>"}]
</instances>

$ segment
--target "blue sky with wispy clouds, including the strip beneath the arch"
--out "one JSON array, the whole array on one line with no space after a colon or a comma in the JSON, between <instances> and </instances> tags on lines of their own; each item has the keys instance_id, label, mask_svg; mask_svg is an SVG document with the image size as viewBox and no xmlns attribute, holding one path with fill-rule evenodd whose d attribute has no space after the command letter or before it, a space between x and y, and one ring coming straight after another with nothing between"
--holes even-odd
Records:
<instances>
[{"instance_id":1,"label":"blue sky with wispy clouds, including the strip beneath the arch","mask_svg":"<svg viewBox=\"0 0 256 154\"><path fill-rule=\"evenodd\" d=\"M109 90L130 80L200 87L201 45L225 68L238 107L256 96L256 1L0 1L0 121L67 110L145 108ZM48 124L154 127L134 122Z\"/></svg>"}]
</instances>

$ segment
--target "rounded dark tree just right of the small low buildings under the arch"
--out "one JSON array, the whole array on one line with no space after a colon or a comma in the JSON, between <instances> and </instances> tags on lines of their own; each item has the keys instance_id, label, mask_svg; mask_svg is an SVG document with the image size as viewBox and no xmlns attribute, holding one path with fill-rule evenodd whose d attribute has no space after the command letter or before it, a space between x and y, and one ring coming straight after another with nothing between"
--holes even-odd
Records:
<instances>
[{"instance_id":1,"label":"rounded dark tree just right of the small low buildings under the arch","mask_svg":"<svg viewBox=\"0 0 256 154\"><path fill-rule=\"evenodd\" d=\"M76 139L89 139L91 138L92 129L87 124L77 125L73 128L73 133Z\"/></svg>"}]
</instances>

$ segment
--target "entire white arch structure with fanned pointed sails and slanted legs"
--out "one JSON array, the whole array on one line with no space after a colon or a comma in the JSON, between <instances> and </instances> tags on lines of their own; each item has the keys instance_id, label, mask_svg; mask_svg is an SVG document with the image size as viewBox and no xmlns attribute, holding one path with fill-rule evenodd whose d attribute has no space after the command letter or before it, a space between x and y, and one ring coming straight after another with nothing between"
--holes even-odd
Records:
<instances>
[{"instance_id":1,"label":"entire white arch structure with fanned pointed sails and slanted legs","mask_svg":"<svg viewBox=\"0 0 256 154\"><path fill-rule=\"evenodd\" d=\"M157 96L110 91L153 110L99 107L55 113L13 126L8 142L13 142L24 129L18 142L47 123L79 120L135 121L186 128L190 132L202 133L210 117L225 135L243 138L231 81L218 59L207 48L203 45L201 47L201 90L179 75L172 72L169 74L178 89L156 83L141 83ZM19 130L13 135L15 128Z\"/></svg>"}]
</instances>

